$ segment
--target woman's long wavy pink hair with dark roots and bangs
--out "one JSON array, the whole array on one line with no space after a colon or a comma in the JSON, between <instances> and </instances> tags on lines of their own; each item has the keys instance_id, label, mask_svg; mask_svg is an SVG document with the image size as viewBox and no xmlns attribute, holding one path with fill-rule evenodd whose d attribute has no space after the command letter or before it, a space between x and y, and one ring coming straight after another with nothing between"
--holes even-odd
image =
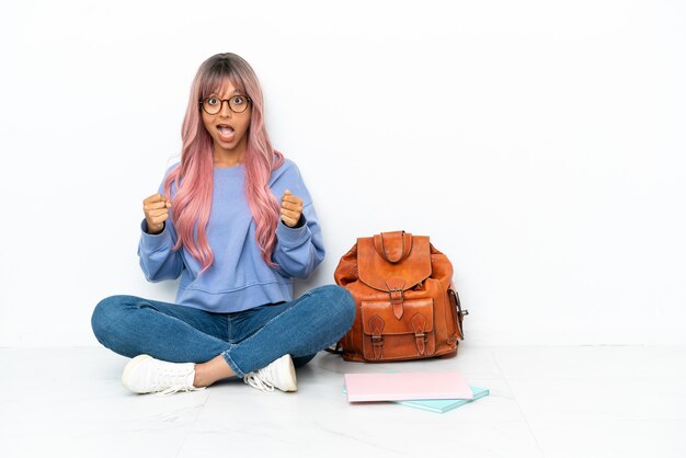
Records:
<instances>
[{"instance_id":1,"label":"woman's long wavy pink hair with dark roots and bangs","mask_svg":"<svg viewBox=\"0 0 686 458\"><path fill-rule=\"evenodd\" d=\"M203 124L199 101L219 92L227 81L252 101L245 150L245 196L255 220L255 239L262 257L268 265L275 266L272 254L276 244L279 206L270 191L268 181L272 171L284 162L284 157L270 142L264 126L262 88L254 70L240 56L225 53L205 60L195 75L181 128L181 163L164 180L167 196L171 195L172 183L178 190L172 199L172 222L179 234L173 250L185 247L202 264L201 274L214 261L206 231L211 207L214 161L213 139Z\"/></svg>"}]
</instances>

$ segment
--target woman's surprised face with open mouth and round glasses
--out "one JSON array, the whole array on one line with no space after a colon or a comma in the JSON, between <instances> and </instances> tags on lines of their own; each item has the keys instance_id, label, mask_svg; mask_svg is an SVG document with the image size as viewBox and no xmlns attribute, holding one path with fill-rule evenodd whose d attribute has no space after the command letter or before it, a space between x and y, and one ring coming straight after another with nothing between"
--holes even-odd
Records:
<instances>
[{"instance_id":1,"label":"woman's surprised face with open mouth and round glasses","mask_svg":"<svg viewBox=\"0 0 686 458\"><path fill-rule=\"evenodd\" d=\"M203 123L214 140L215 151L220 149L227 153L244 152L252 113L252 106L245 94L227 81L221 92L209 94L208 98L205 98L203 105L201 110ZM236 113L231 107L237 111L244 108L244 111ZM206 110L213 111L213 108L219 108L219 111L216 114L206 112Z\"/></svg>"}]
</instances>

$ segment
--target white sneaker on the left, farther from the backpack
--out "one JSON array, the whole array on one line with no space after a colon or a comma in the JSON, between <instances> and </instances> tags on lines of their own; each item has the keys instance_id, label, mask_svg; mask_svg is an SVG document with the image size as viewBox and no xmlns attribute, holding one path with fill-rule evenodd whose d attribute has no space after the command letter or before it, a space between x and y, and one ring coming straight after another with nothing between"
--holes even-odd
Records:
<instances>
[{"instance_id":1,"label":"white sneaker on the left, farther from the backpack","mask_svg":"<svg viewBox=\"0 0 686 458\"><path fill-rule=\"evenodd\" d=\"M129 360L122 374L122 383L137 393L197 391L193 386L195 363L168 363L150 355L138 355Z\"/></svg>"}]
</instances>

